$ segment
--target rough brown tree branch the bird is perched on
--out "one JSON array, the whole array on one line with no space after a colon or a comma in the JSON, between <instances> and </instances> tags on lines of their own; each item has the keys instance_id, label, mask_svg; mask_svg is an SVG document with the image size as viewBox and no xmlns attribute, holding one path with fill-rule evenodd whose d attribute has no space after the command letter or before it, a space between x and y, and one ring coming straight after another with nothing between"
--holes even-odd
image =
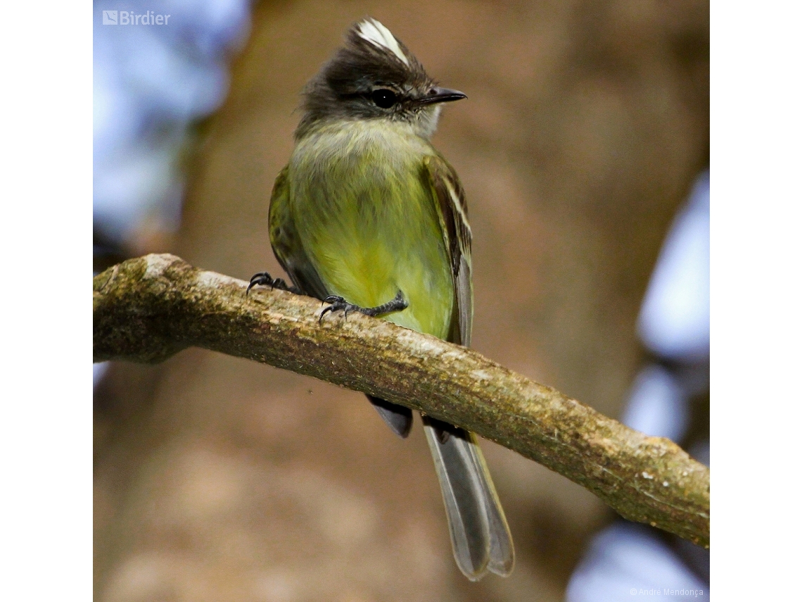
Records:
<instances>
[{"instance_id":1,"label":"rough brown tree branch the bird is perched on","mask_svg":"<svg viewBox=\"0 0 802 602\"><path fill-rule=\"evenodd\" d=\"M191 346L314 376L460 425L597 494L626 519L710 544L710 471L479 353L381 319L318 323L316 299L252 291L173 255L95 276L94 358L156 363Z\"/></svg>"}]
</instances>

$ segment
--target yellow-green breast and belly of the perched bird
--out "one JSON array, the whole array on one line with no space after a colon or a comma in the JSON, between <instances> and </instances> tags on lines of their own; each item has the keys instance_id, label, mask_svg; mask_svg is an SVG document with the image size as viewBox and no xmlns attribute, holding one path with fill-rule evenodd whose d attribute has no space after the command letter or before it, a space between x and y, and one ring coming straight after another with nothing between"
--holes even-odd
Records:
<instances>
[{"instance_id":1,"label":"yellow-green breast and belly of the perched bird","mask_svg":"<svg viewBox=\"0 0 802 602\"><path fill-rule=\"evenodd\" d=\"M353 122L299 141L290 160L290 213L331 295L375 307L402 291L407 309L384 316L446 338L454 292L423 157L431 147L399 128Z\"/></svg>"}]
</instances>

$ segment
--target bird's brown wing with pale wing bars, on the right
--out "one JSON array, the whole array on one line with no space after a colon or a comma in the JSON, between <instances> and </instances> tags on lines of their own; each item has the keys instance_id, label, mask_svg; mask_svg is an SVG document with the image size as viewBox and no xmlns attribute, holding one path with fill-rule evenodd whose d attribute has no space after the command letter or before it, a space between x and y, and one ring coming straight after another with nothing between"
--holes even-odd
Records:
<instances>
[{"instance_id":1,"label":"bird's brown wing with pale wing bars, on the right","mask_svg":"<svg viewBox=\"0 0 802 602\"><path fill-rule=\"evenodd\" d=\"M446 239L454 283L454 315L448 340L471 344L473 325L473 283L471 279L471 226L468 224L468 205L465 193L454 168L441 155L423 160L428 184L437 201L440 227Z\"/></svg>"}]
</instances>

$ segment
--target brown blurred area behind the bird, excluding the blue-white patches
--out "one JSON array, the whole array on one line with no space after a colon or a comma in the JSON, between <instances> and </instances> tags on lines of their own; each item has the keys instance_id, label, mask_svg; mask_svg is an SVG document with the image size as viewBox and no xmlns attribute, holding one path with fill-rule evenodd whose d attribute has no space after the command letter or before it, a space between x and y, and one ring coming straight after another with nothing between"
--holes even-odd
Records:
<instances>
[{"instance_id":1,"label":"brown blurred area behind the bird, excluding the blue-white patches","mask_svg":"<svg viewBox=\"0 0 802 602\"><path fill-rule=\"evenodd\" d=\"M128 249L280 274L267 208L298 93L368 14L468 95L433 141L468 195L473 347L618 417L650 272L708 161L707 2L258 3L225 104L185 153L180 230ZM419 422L401 441L361 394L197 349L115 364L95 389L95 596L562 600L614 514L483 447L517 563L471 584Z\"/></svg>"}]
</instances>

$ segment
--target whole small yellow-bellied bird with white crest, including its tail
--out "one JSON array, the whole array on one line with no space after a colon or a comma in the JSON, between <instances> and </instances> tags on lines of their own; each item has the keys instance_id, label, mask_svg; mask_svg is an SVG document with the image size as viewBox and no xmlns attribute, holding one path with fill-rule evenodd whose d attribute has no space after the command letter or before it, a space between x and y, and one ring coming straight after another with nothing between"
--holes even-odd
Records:
<instances>
[{"instance_id":1,"label":"whole small yellow-bellied bird with white crest, including its tail","mask_svg":"<svg viewBox=\"0 0 802 602\"><path fill-rule=\"evenodd\" d=\"M306 85L290 163L270 199L273 252L294 287L266 272L256 285L360 311L452 343L471 343L473 288L468 209L454 169L431 145L439 87L380 22L352 26L346 43ZM368 396L407 437L412 412ZM514 551L476 437L423 417L460 571L479 580L512 572Z\"/></svg>"}]
</instances>

